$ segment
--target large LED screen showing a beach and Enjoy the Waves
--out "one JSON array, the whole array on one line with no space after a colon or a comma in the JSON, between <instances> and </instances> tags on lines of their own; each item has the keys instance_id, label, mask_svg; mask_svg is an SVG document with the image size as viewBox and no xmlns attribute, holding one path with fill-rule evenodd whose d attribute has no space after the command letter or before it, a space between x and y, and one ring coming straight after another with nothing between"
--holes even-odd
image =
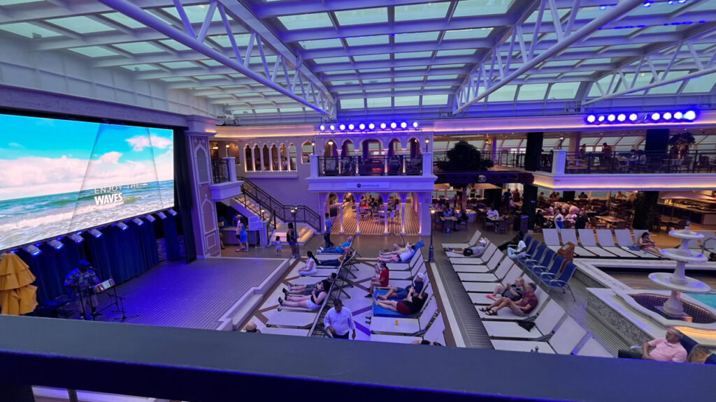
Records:
<instances>
[{"instance_id":1,"label":"large LED screen showing a beach and Enjoy the Waves","mask_svg":"<svg viewBox=\"0 0 716 402\"><path fill-rule=\"evenodd\" d=\"M0 250L174 206L171 129L0 114Z\"/></svg>"}]
</instances>

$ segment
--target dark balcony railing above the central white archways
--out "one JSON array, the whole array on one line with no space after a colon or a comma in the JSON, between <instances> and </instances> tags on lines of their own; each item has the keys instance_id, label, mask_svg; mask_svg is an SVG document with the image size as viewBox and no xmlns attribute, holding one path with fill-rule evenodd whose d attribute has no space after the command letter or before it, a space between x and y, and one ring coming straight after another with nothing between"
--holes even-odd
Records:
<instances>
[{"instance_id":1,"label":"dark balcony railing above the central white archways","mask_svg":"<svg viewBox=\"0 0 716 402\"><path fill-rule=\"evenodd\" d=\"M420 176L422 155L319 157L319 176Z\"/></svg>"}]
</instances>

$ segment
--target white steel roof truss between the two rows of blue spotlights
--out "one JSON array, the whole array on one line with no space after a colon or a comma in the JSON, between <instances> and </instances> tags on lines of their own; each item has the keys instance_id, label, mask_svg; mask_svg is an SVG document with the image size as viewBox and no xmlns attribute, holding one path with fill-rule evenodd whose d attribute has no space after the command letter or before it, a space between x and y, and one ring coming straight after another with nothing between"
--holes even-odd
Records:
<instances>
[{"instance_id":1,"label":"white steel roof truss between the two rows of blue spotlights","mask_svg":"<svg viewBox=\"0 0 716 402\"><path fill-rule=\"evenodd\" d=\"M555 0L539 0L539 11L537 21L533 24L533 31L528 32L523 29L526 26L525 20L532 11L532 9L528 9L528 13L521 17L520 21L515 24L514 29L509 31L508 36L490 49L485 54L482 62L478 63L473 71L468 74L468 77L465 78L463 84L455 92L453 113L463 112L470 105L487 97L513 79L520 77L521 74L528 72L542 62L548 61L550 57L558 54L571 44L584 39L605 24L619 19L632 9L642 6L643 3L644 1L642 0L621 0L609 11L575 31L574 21L579 11L580 0L574 1L571 11L564 22L559 18ZM542 29L546 11L551 15L553 29ZM556 34L556 42L542 52L538 52L539 49L536 46L538 37L549 32ZM526 38L527 35L531 36ZM520 60L514 61L513 59L517 57ZM521 62L521 67L511 69L513 62Z\"/></svg>"}]
</instances>

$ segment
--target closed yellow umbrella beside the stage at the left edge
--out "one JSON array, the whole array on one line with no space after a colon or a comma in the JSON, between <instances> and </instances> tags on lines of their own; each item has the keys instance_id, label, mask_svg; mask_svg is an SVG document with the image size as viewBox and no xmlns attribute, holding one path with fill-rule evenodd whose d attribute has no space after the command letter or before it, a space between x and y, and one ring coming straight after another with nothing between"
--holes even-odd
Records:
<instances>
[{"instance_id":1,"label":"closed yellow umbrella beside the stage at the left edge","mask_svg":"<svg viewBox=\"0 0 716 402\"><path fill-rule=\"evenodd\" d=\"M2 314L32 313L37 307L37 287L29 267L16 254L4 253L0 258L0 306Z\"/></svg>"}]
</instances>

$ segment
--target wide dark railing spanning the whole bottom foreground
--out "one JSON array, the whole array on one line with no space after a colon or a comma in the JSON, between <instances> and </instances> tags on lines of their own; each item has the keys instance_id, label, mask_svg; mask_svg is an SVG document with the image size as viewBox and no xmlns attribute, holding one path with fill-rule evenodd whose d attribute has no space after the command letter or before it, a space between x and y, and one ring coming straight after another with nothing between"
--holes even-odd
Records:
<instances>
[{"instance_id":1,"label":"wide dark railing spanning the whole bottom foreground","mask_svg":"<svg viewBox=\"0 0 716 402\"><path fill-rule=\"evenodd\" d=\"M377 369L385 361L411 369ZM193 402L327 395L633 402L716 395L716 366L702 364L7 315L0 316L0 365L6 391L35 385Z\"/></svg>"}]
</instances>

